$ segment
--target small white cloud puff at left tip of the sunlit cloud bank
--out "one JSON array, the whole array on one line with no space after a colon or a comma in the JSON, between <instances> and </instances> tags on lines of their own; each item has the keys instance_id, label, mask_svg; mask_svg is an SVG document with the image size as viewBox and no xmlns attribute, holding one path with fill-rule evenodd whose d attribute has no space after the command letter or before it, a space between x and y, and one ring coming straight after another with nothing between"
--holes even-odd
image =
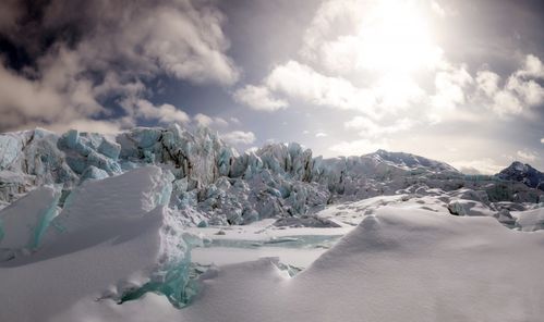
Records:
<instances>
[{"instance_id":1,"label":"small white cloud puff at left tip of the sunlit cloud bank","mask_svg":"<svg viewBox=\"0 0 544 322\"><path fill-rule=\"evenodd\" d=\"M254 110L276 111L288 107L287 101L273 97L270 90L264 86L246 85L233 94L235 101L244 103Z\"/></svg>"}]
</instances>

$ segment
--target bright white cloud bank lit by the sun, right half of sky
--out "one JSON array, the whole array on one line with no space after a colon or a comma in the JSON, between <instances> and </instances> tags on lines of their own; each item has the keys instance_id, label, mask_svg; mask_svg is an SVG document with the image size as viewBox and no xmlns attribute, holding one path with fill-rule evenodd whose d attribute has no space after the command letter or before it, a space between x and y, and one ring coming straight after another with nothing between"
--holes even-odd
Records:
<instances>
[{"instance_id":1,"label":"bright white cloud bank lit by the sun, right half of sky","mask_svg":"<svg viewBox=\"0 0 544 322\"><path fill-rule=\"evenodd\" d=\"M353 110L374 123L402 119L366 124L363 137L406 131L422 121L480 121L486 109L499 116L520 114L542 104L537 79L544 67L536 55L527 55L506 82L493 71L473 73L469 64L449 61L434 42L428 13L456 14L442 1L323 1L298 57L274 65L258 85L247 85L235 97L256 110L289 103Z\"/></svg>"}]
</instances>

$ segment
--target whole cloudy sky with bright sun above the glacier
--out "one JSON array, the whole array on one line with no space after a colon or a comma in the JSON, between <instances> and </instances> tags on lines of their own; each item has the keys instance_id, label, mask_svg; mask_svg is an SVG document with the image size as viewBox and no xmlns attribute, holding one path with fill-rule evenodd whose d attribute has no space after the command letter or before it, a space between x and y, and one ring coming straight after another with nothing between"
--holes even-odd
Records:
<instances>
[{"instance_id":1,"label":"whole cloudy sky with bright sun above the glacier","mask_svg":"<svg viewBox=\"0 0 544 322\"><path fill-rule=\"evenodd\" d=\"M176 122L544 170L542 30L540 0L3 0L0 132Z\"/></svg>"}]
</instances>

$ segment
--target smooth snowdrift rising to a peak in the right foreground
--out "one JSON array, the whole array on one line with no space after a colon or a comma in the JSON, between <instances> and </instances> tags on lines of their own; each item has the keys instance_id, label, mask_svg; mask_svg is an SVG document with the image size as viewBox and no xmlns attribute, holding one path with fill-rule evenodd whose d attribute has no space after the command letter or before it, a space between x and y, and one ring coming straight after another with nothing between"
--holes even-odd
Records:
<instances>
[{"instance_id":1,"label":"smooth snowdrift rising to a peak in the right foreground","mask_svg":"<svg viewBox=\"0 0 544 322\"><path fill-rule=\"evenodd\" d=\"M209 272L198 298L181 311L148 295L121 308L80 302L57 318L542 321L543 245L543 233L511 231L491 218L386 206L295 277L262 259Z\"/></svg>"}]
</instances>

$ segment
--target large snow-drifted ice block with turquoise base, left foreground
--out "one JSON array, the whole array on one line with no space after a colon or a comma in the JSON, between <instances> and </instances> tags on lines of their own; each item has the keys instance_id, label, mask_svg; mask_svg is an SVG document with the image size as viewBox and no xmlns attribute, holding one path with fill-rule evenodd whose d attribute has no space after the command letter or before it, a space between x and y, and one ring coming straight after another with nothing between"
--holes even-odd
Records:
<instances>
[{"instance_id":1,"label":"large snow-drifted ice block with turquoise base, left foreground","mask_svg":"<svg viewBox=\"0 0 544 322\"><path fill-rule=\"evenodd\" d=\"M178 307L189 302L196 292L190 248L202 240L185 233L184 223L166 207L172 181L169 170L143 166L74 188L39 248L2 263L0 297L10 310L0 310L0 321L44 321L80 300L93 306L96 300L130 300L146 292L162 294ZM37 205L41 195L43 205L53 196L35 190L13 205L14 214L21 215L24 205ZM3 225L1 247L4 242L11 247L27 245L26 238L10 235L15 228L26 233L25 222ZM31 242L36 232L26 234ZM28 310L34 295L49 293L50 285L56 296L44 297Z\"/></svg>"}]
</instances>

